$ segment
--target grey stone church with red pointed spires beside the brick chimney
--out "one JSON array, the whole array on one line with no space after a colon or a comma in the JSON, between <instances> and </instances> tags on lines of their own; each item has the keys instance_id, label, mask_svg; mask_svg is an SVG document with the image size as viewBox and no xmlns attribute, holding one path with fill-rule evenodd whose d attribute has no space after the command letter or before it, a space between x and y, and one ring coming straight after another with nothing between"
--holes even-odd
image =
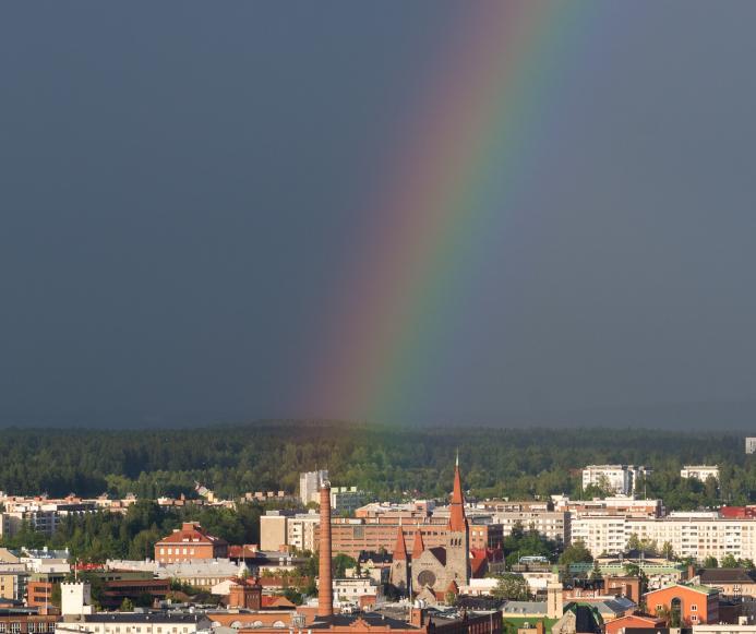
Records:
<instances>
[{"instance_id":1,"label":"grey stone church with red pointed spires beside the brick chimney","mask_svg":"<svg viewBox=\"0 0 756 634\"><path fill-rule=\"evenodd\" d=\"M415 533L412 551L407 551L403 527L399 526L391 569L391 582L413 597L443 598L459 594L459 586L470 581L469 526L465 515L459 459L454 467L454 490L446 525L446 546L425 548L420 528Z\"/></svg>"}]
</instances>

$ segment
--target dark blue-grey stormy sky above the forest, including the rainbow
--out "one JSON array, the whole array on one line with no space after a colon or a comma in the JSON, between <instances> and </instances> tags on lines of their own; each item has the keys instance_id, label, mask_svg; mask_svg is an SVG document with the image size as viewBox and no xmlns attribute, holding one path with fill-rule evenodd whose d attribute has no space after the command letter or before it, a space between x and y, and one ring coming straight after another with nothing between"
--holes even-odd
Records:
<instances>
[{"instance_id":1,"label":"dark blue-grey stormy sky above the forest, including the rainbow","mask_svg":"<svg viewBox=\"0 0 756 634\"><path fill-rule=\"evenodd\" d=\"M755 22L3 3L0 424L753 426Z\"/></svg>"}]
</instances>

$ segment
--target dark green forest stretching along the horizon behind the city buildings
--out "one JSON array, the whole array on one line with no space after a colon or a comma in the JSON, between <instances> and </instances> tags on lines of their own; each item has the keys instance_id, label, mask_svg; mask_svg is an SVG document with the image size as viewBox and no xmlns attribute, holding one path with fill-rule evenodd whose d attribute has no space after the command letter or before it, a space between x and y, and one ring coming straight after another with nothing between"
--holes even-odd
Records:
<instances>
[{"instance_id":1,"label":"dark green forest stretching along the horizon behind the city buildings","mask_svg":"<svg viewBox=\"0 0 756 634\"><path fill-rule=\"evenodd\" d=\"M335 486L374 499L443 498L459 452L465 488L479 498L579 498L580 468L653 468L641 493L668 510L754 502L756 456L732 432L647 429L399 428L262 421L168 430L5 429L0 489L50 497L107 492L194 497L200 481L224 498L296 492L299 472L327 468ZM683 464L720 465L720 482L680 478Z\"/></svg>"}]
</instances>

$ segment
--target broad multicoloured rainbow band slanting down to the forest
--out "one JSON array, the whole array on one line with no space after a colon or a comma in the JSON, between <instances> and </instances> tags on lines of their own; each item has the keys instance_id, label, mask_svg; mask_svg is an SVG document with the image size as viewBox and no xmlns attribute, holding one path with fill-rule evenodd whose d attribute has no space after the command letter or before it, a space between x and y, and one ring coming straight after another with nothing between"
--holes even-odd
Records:
<instances>
[{"instance_id":1,"label":"broad multicoloured rainbow band slanting down to the forest","mask_svg":"<svg viewBox=\"0 0 756 634\"><path fill-rule=\"evenodd\" d=\"M407 422L403 404L433 371L423 346L453 319L477 238L505 229L533 163L529 137L553 106L560 52L588 7L597 5L460 3L454 44L397 148L394 182L370 206L375 223L323 337L308 415Z\"/></svg>"}]
</instances>

